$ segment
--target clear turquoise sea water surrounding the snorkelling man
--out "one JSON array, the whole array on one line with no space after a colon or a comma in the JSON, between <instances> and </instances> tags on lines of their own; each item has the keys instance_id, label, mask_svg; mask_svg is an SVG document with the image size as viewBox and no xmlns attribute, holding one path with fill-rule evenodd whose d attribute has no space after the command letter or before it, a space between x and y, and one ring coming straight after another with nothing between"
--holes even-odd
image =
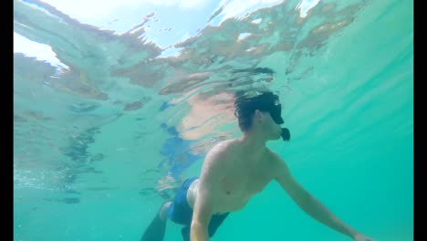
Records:
<instances>
[{"instance_id":1,"label":"clear turquoise sea water surrounding the snorkelling man","mask_svg":"<svg viewBox=\"0 0 427 241\"><path fill-rule=\"evenodd\" d=\"M413 240L413 3L320 1L305 17L299 4L213 15L158 58L165 47L142 30L14 1L15 33L68 67L14 56L14 239L138 240L209 148L240 135L230 94L268 88L292 134L268 146L297 180L361 233ZM172 240L180 226L169 223ZM350 239L271 183L213 240Z\"/></svg>"}]
</instances>

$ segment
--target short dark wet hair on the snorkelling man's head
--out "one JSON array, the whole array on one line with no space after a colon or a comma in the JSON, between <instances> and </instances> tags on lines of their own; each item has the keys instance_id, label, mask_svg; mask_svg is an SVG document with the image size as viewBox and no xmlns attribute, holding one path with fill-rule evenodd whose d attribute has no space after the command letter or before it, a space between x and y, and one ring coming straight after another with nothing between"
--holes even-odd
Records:
<instances>
[{"instance_id":1,"label":"short dark wet hair on the snorkelling man's head","mask_svg":"<svg viewBox=\"0 0 427 241\"><path fill-rule=\"evenodd\" d=\"M234 115L239 122L241 131L249 131L252 127L255 110L268 111L278 96L271 91L258 92L257 95L249 95L245 91L234 93Z\"/></svg>"}]
</instances>

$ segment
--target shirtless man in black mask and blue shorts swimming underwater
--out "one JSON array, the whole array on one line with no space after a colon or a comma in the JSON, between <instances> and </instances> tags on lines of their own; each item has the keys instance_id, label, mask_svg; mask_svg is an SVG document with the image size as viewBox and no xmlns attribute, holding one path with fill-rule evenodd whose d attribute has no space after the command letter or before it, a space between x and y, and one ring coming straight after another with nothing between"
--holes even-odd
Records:
<instances>
[{"instance_id":1,"label":"shirtless man in black mask and blue shorts swimming underwater","mask_svg":"<svg viewBox=\"0 0 427 241\"><path fill-rule=\"evenodd\" d=\"M184 241L207 241L231 212L241 210L251 197L276 181L294 202L323 225L354 241L373 241L346 225L302 187L286 162L266 147L266 141L284 141L289 131L281 128L282 106L273 92L234 101L242 137L221 141L206 154L200 177L187 179L172 202L162 204L145 230L142 241L163 240L166 221L183 225Z\"/></svg>"}]
</instances>

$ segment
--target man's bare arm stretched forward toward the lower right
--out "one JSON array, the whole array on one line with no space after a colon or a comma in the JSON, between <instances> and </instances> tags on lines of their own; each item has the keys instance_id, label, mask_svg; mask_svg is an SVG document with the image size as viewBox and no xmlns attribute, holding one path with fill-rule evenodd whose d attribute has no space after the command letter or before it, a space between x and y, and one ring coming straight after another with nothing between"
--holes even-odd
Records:
<instances>
[{"instance_id":1,"label":"man's bare arm stretched forward toward the lower right","mask_svg":"<svg viewBox=\"0 0 427 241\"><path fill-rule=\"evenodd\" d=\"M346 225L338 216L332 214L328 208L321 204L317 198L309 194L289 172L286 162L275 154L276 163L276 181L286 191L294 202L304 210L307 215L312 216L320 223L338 231L339 233L351 237L355 241L373 241L374 239L363 236L354 228Z\"/></svg>"}]
</instances>

